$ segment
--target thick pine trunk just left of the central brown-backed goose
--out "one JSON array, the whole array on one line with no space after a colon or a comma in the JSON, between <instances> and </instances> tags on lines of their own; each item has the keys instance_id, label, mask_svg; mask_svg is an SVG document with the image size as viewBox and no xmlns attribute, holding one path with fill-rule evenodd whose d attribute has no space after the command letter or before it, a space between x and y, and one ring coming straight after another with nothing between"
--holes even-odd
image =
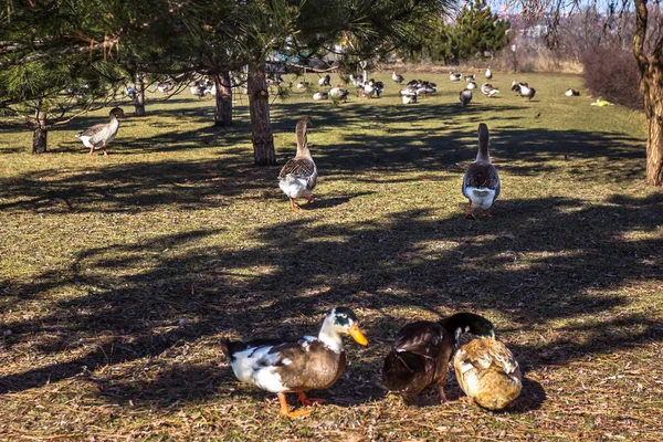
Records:
<instances>
[{"instance_id":1,"label":"thick pine trunk just left of the central brown-backed goose","mask_svg":"<svg viewBox=\"0 0 663 442\"><path fill-rule=\"evenodd\" d=\"M248 87L253 158L257 166L273 166L276 164L276 155L274 154L274 135L270 123L270 94L264 64L251 66Z\"/></svg>"}]
</instances>

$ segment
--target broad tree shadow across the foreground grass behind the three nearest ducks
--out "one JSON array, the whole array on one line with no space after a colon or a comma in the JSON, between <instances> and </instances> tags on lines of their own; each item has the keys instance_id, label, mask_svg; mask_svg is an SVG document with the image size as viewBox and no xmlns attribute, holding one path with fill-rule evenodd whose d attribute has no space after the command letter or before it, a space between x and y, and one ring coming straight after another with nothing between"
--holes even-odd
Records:
<instances>
[{"instance_id":1,"label":"broad tree shadow across the foreground grass behind the three nearest ducks","mask_svg":"<svg viewBox=\"0 0 663 442\"><path fill-rule=\"evenodd\" d=\"M498 217L481 223L467 222L460 213L433 218L433 209L403 211L379 224L294 219L259 228L252 238L261 245L235 251L210 245L220 233L215 229L82 251L66 274L43 272L32 282L0 285L8 305L18 309L45 290L90 291L53 302L49 314L4 325L13 330L6 337L8 351L30 340L45 360L72 349L80 356L6 375L0 391L154 358L219 333L233 338L312 334L335 305L357 312L491 306L507 318L508 325L496 324L502 333L572 319L545 343L509 345L525 370L663 340L663 323L624 311L628 295L615 290L631 280L663 278L663 239L622 240L630 231L660 224L663 194L614 197L592 206L560 198L499 204ZM262 267L264 272L251 276L242 273ZM621 313L615 317L580 323L617 311ZM369 320L362 327L369 340L392 338L392 323ZM352 376L329 394L343 398L350 390L364 400L380 397L376 370L386 345L349 346L348 352L355 362L348 369ZM229 379L215 367L190 368L196 373L191 381L200 381L190 397L185 392L186 375L171 370L147 380L120 376L113 380L113 398L140 398L136 386L141 386L148 389L143 393L146 401L165 404L173 397L169 382L181 391L177 400L189 400L206 397L206 386L218 387L217 377ZM528 386L533 393L518 407L535 407L537 398L545 399L536 383Z\"/></svg>"}]
</instances>

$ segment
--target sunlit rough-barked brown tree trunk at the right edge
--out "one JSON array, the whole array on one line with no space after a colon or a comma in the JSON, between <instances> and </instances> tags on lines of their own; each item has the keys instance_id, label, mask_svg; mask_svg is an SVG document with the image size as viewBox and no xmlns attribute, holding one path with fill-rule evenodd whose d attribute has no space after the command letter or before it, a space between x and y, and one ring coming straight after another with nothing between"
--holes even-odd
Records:
<instances>
[{"instance_id":1,"label":"sunlit rough-barked brown tree trunk at the right edge","mask_svg":"<svg viewBox=\"0 0 663 442\"><path fill-rule=\"evenodd\" d=\"M635 0L633 55L640 70L640 93L649 126L646 135L646 183L663 186L663 36L659 35L653 52L645 52L646 0Z\"/></svg>"}]
</instances>

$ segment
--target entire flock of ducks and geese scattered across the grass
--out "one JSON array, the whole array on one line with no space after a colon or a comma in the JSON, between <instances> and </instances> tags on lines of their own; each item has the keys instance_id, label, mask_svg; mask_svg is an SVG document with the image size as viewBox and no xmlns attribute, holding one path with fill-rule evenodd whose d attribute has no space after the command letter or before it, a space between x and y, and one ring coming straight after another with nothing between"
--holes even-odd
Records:
<instances>
[{"instance_id":1,"label":"entire flock of ducks and geese scattered across the grass","mask_svg":"<svg viewBox=\"0 0 663 442\"><path fill-rule=\"evenodd\" d=\"M495 98L499 90L487 82L493 78L490 67L484 76L486 82L480 90L486 97ZM403 104L414 104L418 98L425 98L438 92L435 83L425 80L411 80L406 83L406 78L397 72L392 73L391 80L401 87L399 96ZM276 85L283 83L281 75L275 75L270 81ZM350 75L349 81L357 95L366 99L379 98L385 91L385 84L373 78L364 81ZM450 72L450 81L465 82L459 97L462 106L470 105L473 98L472 91L477 87L476 75ZM345 84L332 86L329 74L320 76L317 84L320 90L313 94L314 101L332 98L335 102L344 102L349 95ZM190 92L201 98L214 95L213 86L194 81ZM168 93L173 87L172 83L160 83L157 86L162 93ZM311 83L301 81L295 87L308 91ZM536 90L525 82L514 81L512 91L528 101L536 96ZM127 88L126 94L134 99L136 92ZM579 95L570 88L565 94ZM115 107L109 113L107 124L95 125L77 137L90 148L91 155L98 148L106 155L106 146L118 131L118 117L124 116L123 109ZM318 180L318 169L307 138L308 130L313 127L309 116L298 119L295 128L296 154L283 166L277 177L278 187L288 198L291 209L295 212L302 210L297 203L298 199L305 199L308 204L316 201L313 192ZM491 217L490 209L501 194L499 175L491 161L488 126L485 123L478 124L477 133L477 155L467 166L462 180L462 194L467 200L467 219L476 219L475 211L480 209L484 217ZM459 339L465 333L475 338L460 346ZM347 357L343 345L345 335L349 335L359 345L368 345L367 337L359 328L357 315L350 308L338 306L324 317L317 336L270 341L223 339L221 350L240 381L252 383L277 396L281 415L304 418L311 413L307 407L323 402L322 399L308 397L307 392L332 387L346 369ZM411 400L429 387L436 387L440 399L444 402L450 364L453 364L461 389L471 401L482 408L504 409L522 391L518 362L509 349L495 338L493 323L469 312L456 313L438 322L418 320L407 324L385 355L381 383L406 400ZM296 393L304 408L291 410L286 393Z\"/></svg>"}]
</instances>

